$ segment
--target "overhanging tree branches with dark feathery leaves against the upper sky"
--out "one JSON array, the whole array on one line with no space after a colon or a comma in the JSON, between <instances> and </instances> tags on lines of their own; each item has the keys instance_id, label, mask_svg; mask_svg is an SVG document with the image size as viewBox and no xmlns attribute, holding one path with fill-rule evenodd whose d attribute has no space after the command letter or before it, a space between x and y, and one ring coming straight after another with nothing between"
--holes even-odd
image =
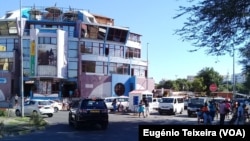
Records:
<instances>
[{"instance_id":1,"label":"overhanging tree branches with dark feathery leaves against the upper sky","mask_svg":"<svg viewBox=\"0 0 250 141\"><path fill-rule=\"evenodd\" d=\"M250 44L250 0L188 0L174 19L187 15L187 21L175 34L191 41L195 49L209 55L232 54L234 47Z\"/></svg>"}]
</instances>

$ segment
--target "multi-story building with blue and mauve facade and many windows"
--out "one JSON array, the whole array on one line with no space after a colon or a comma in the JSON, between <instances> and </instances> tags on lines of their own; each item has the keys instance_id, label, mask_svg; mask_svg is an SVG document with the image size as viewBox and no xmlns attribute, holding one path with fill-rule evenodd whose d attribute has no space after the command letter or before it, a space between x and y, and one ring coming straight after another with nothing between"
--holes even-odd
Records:
<instances>
[{"instance_id":1,"label":"multi-story building with blue and mauve facade and many windows","mask_svg":"<svg viewBox=\"0 0 250 141\"><path fill-rule=\"evenodd\" d=\"M6 12L0 19L0 90L5 97L20 94L22 84L24 96L36 97L152 91L140 38L88 10L36 6Z\"/></svg>"}]
</instances>

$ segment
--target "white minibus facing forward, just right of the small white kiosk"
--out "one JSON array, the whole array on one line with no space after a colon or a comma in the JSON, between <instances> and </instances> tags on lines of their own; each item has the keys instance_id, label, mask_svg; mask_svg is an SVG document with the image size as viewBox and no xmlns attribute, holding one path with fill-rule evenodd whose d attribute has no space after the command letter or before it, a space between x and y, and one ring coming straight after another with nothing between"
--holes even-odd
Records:
<instances>
[{"instance_id":1,"label":"white minibus facing forward, just right of the small white kiosk","mask_svg":"<svg viewBox=\"0 0 250 141\"><path fill-rule=\"evenodd\" d=\"M182 96L162 97L159 103L159 114L182 114L184 111L184 98Z\"/></svg>"}]
</instances>

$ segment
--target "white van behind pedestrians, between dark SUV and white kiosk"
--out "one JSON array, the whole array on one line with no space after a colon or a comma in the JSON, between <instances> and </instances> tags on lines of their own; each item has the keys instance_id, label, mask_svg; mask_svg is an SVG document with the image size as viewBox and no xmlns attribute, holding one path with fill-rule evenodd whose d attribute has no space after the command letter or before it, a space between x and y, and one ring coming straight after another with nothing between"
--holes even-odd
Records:
<instances>
[{"instance_id":1,"label":"white van behind pedestrians, between dark SUV and white kiosk","mask_svg":"<svg viewBox=\"0 0 250 141\"><path fill-rule=\"evenodd\" d=\"M118 105L122 105L124 110L127 110L129 107L129 97L128 96L115 96L115 97L106 97L104 101L110 111L113 111L112 102L113 100L117 100L117 107Z\"/></svg>"}]
</instances>

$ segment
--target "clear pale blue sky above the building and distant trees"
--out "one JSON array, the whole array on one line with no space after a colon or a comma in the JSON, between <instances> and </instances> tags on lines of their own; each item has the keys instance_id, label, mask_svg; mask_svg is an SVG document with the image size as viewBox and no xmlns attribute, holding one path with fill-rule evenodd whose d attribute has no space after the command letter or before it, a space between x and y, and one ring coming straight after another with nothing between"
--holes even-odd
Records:
<instances>
[{"instance_id":1,"label":"clear pale blue sky above the building and distant trees","mask_svg":"<svg viewBox=\"0 0 250 141\"><path fill-rule=\"evenodd\" d=\"M20 0L0 0L0 17L7 11L20 8ZM183 42L174 35L186 19L173 17L180 5L188 6L186 0L21 0L22 6L56 6L86 9L89 12L114 19L116 26L129 27L130 31L142 35L142 59L149 61L149 77L156 83L161 80L186 79L197 75L204 68L213 68L220 75L241 73L239 55L233 57L209 56L205 50L190 53L191 42Z\"/></svg>"}]
</instances>

